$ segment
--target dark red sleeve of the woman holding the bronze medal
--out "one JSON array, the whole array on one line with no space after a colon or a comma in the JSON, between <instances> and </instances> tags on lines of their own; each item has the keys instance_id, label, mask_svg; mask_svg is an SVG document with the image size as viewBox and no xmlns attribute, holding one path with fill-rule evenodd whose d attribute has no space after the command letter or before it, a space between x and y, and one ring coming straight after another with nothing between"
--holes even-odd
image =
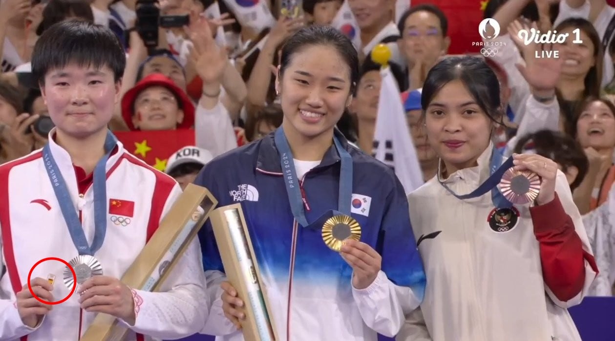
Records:
<instances>
[{"instance_id":1,"label":"dark red sleeve of the woman holding the bronze medal","mask_svg":"<svg viewBox=\"0 0 615 341\"><path fill-rule=\"evenodd\" d=\"M557 193L552 202L531 207L530 214L539 242L545 283L558 300L573 299L585 282L584 260L593 262L592 267L595 267L593 257L583 250L581 238Z\"/></svg>"}]
</instances>

